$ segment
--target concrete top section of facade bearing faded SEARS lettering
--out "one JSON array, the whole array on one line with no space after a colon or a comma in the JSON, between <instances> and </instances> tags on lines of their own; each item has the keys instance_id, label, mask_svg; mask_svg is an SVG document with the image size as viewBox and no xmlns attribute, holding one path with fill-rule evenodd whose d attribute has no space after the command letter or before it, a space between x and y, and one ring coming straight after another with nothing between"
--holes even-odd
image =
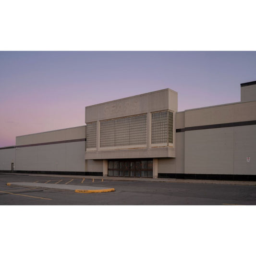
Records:
<instances>
[{"instance_id":1,"label":"concrete top section of facade bearing faded SEARS lettering","mask_svg":"<svg viewBox=\"0 0 256 256\"><path fill-rule=\"evenodd\" d=\"M169 97L171 97L171 101ZM164 89L88 106L85 108L85 122L108 120L168 109L177 111L177 92L171 89Z\"/></svg>"}]
</instances>

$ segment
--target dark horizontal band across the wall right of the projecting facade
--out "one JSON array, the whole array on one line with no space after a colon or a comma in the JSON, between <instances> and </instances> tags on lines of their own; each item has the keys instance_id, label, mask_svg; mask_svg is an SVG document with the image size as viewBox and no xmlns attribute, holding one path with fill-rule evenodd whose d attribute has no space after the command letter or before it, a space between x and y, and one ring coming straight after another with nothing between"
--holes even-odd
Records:
<instances>
[{"instance_id":1,"label":"dark horizontal band across the wall right of the projecting facade","mask_svg":"<svg viewBox=\"0 0 256 256\"><path fill-rule=\"evenodd\" d=\"M216 128L245 126L245 125L255 125L255 124L256 124L256 120L243 121L243 122L228 122L228 123L200 125L200 126L192 126L192 127L185 127L185 128L181 128L181 129L176 129L176 133L181 133L181 132L186 132L186 131L195 131L195 130L216 129Z\"/></svg>"}]
</instances>

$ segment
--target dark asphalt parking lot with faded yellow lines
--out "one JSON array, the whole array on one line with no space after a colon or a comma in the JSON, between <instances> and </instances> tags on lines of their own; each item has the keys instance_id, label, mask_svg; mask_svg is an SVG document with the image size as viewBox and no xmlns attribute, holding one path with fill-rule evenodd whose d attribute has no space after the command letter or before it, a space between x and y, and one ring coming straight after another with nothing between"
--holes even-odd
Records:
<instances>
[{"instance_id":1,"label":"dark asphalt parking lot with faded yellow lines","mask_svg":"<svg viewBox=\"0 0 256 256\"><path fill-rule=\"evenodd\" d=\"M52 183L114 188L80 194L7 186L12 182ZM0 205L256 205L256 183L105 180L101 177L0 173Z\"/></svg>"}]
</instances>

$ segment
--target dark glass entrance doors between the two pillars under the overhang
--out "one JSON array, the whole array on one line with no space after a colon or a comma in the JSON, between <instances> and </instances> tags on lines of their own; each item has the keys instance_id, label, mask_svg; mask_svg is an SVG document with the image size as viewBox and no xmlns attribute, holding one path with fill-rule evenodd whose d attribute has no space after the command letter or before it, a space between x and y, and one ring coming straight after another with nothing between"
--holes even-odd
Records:
<instances>
[{"instance_id":1,"label":"dark glass entrance doors between the two pillars under the overhang","mask_svg":"<svg viewBox=\"0 0 256 256\"><path fill-rule=\"evenodd\" d=\"M152 178L153 159L109 160L108 176Z\"/></svg>"}]
</instances>

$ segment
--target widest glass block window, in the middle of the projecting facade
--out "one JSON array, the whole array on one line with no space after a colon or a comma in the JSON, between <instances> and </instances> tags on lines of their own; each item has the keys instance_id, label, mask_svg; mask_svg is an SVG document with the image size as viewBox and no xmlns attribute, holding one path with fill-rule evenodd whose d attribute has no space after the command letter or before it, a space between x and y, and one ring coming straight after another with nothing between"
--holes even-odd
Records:
<instances>
[{"instance_id":1,"label":"widest glass block window, in the middle of the projecting facade","mask_svg":"<svg viewBox=\"0 0 256 256\"><path fill-rule=\"evenodd\" d=\"M100 122L100 147L146 144L146 114Z\"/></svg>"}]
</instances>

